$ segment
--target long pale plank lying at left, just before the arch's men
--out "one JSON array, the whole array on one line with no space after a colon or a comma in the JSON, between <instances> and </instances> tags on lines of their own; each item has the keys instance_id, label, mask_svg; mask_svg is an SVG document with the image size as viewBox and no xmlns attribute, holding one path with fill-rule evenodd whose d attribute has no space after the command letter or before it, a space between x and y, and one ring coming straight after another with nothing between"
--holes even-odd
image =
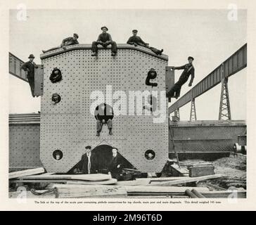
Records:
<instances>
[{"instance_id":1,"label":"long pale plank lying at left, just before the arch's men","mask_svg":"<svg viewBox=\"0 0 256 225\"><path fill-rule=\"evenodd\" d=\"M48 179L48 180L77 180L77 181L106 181L112 179L109 174L41 174L39 176L23 176L21 179Z\"/></svg>"}]
</instances>

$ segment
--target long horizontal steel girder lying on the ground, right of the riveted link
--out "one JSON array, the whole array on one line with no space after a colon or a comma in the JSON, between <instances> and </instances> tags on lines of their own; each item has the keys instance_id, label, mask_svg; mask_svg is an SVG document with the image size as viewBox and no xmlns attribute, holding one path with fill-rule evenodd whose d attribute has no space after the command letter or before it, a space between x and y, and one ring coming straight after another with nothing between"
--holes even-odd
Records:
<instances>
[{"instance_id":1,"label":"long horizontal steel girder lying on the ground, right of the riveted link","mask_svg":"<svg viewBox=\"0 0 256 225\"><path fill-rule=\"evenodd\" d=\"M177 153L231 153L238 135L246 130L244 120L170 122L169 126L173 130L169 141L173 138ZM169 153L175 153L171 142Z\"/></svg>"}]
</instances>

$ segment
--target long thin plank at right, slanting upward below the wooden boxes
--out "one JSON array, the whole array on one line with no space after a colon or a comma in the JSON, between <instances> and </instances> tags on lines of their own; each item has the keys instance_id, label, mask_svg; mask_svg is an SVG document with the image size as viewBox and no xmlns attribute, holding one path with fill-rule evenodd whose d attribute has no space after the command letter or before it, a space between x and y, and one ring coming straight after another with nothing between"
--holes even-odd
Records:
<instances>
[{"instance_id":1,"label":"long thin plank at right, slanting upward below the wooden boxes","mask_svg":"<svg viewBox=\"0 0 256 225\"><path fill-rule=\"evenodd\" d=\"M209 179L217 179L224 176L225 175L222 175L222 174L215 174L215 175L209 175L209 176L187 177L186 179L180 179L177 181L155 182L154 184L148 184L148 186L172 186L177 184L186 184L186 183L197 182L197 181L205 181Z\"/></svg>"}]
</instances>

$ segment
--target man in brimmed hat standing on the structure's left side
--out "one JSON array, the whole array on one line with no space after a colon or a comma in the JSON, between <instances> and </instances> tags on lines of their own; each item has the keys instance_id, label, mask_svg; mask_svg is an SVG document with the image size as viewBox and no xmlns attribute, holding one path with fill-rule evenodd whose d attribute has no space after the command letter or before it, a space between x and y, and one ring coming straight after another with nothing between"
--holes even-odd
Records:
<instances>
[{"instance_id":1,"label":"man in brimmed hat standing on the structure's left side","mask_svg":"<svg viewBox=\"0 0 256 225\"><path fill-rule=\"evenodd\" d=\"M34 55L33 54L30 54L30 56L28 56L28 58L30 60L27 63L24 63L21 66L21 68L23 70L27 71L27 80L28 80L28 83L30 84L31 94L34 98L34 69L38 68L38 66L34 63Z\"/></svg>"}]
</instances>

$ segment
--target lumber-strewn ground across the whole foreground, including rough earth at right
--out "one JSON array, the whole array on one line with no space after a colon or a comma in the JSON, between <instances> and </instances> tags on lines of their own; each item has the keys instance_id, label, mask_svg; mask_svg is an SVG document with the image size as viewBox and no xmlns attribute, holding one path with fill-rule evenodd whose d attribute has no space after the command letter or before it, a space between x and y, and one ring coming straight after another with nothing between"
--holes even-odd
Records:
<instances>
[{"instance_id":1,"label":"lumber-strewn ground across the whole foreground, including rough earth at right","mask_svg":"<svg viewBox=\"0 0 256 225\"><path fill-rule=\"evenodd\" d=\"M9 198L246 198L246 155L215 161L168 160L162 173L54 174L44 168L9 173Z\"/></svg>"}]
</instances>

